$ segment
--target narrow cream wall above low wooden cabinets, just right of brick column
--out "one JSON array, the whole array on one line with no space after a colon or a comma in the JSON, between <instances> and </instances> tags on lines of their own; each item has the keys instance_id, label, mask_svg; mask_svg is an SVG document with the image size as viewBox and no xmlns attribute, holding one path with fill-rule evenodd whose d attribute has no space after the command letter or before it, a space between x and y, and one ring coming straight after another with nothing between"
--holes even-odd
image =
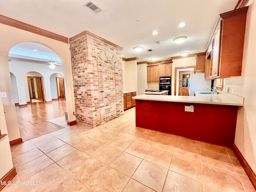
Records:
<instances>
[{"instance_id":1,"label":"narrow cream wall above low wooden cabinets, just right of brick column","mask_svg":"<svg viewBox=\"0 0 256 192\"><path fill-rule=\"evenodd\" d=\"M124 91L137 91L137 60L122 61Z\"/></svg>"}]
</instances>

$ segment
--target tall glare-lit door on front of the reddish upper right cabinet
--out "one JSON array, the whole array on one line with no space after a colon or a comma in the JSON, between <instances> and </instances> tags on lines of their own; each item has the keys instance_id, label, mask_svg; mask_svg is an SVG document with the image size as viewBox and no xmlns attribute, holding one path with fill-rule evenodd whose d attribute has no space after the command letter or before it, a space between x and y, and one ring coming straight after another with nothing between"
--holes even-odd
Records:
<instances>
[{"instance_id":1,"label":"tall glare-lit door on front of the reddish upper right cabinet","mask_svg":"<svg viewBox=\"0 0 256 192\"><path fill-rule=\"evenodd\" d=\"M211 77L217 77L219 74L219 62L220 62L220 29L221 22L214 32L213 50L212 50L212 72Z\"/></svg>"}]
</instances>

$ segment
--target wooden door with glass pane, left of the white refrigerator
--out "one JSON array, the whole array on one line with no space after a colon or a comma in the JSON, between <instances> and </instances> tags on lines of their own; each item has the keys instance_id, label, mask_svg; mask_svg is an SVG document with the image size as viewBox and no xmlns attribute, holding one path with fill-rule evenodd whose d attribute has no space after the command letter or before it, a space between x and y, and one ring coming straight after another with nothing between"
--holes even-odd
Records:
<instances>
[{"instance_id":1,"label":"wooden door with glass pane, left of the white refrigerator","mask_svg":"<svg viewBox=\"0 0 256 192\"><path fill-rule=\"evenodd\" d=\"M180 71L179 72L179 95L189 96L189 78L194 71Z\"/></svg>"}]
</instances>

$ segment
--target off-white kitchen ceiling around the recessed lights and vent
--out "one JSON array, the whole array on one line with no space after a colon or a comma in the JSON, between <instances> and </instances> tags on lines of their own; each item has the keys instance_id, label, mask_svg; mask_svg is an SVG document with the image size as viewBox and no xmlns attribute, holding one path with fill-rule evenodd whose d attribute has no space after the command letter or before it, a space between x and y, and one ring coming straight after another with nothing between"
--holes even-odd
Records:
<instances>
[{"instance_id":1,"label":"off-white kitchen ceiling around the recessed lights and vent","mask_svg":"<svg viewBox=\"0 0 256 192\"><path fill-rule=\"evenodd\" d=\"M0 14L72 37L84 30L123 47L124 58L168 60L204 52L218 15L233 10L238 0L92 0L103 11L95 14L89 0L0 0ZM137 21L137 19L139 21ZM186 22L184 28L178 28ZM158 30L157 35L152 35ZM173 39L187 36L183 44ZM161 41L160 44L155 44ZM134 52L143 46L142 52ZM152 52L148 52L152 49ZM157 60L157 61L158 61Z\"/></svg>"}]
</instances>

